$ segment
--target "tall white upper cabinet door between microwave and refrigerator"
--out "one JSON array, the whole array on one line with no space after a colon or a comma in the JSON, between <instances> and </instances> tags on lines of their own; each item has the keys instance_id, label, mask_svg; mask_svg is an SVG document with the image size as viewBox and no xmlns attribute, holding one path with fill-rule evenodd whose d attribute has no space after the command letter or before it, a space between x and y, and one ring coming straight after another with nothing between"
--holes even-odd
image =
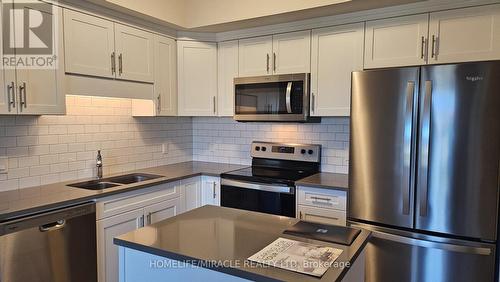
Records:
<instances>
[{"instance_id":1,"label":"tall white upper cabinet door between microwave and refrigerator","mask_svg":"<svg viewBox=\"0 0 500 282\"><path fill-rule=\"evenodd\" d=\"M312 32L311 115L349 116L351 72L363 69L362 23Z\"/></svg>"}]
</instances>

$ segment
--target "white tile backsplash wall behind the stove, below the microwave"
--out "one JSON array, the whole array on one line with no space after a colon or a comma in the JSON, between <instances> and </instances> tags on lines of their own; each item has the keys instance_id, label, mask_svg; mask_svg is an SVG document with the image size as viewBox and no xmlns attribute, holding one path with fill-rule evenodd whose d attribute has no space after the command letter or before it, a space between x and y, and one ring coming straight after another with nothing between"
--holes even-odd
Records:
<instances>
[{"instance_id":1,"label":"white tile backsplash wall behind the stove, below the microwave","mask_svg":"<svg viewBox=\"0 0 500 282\"><path fill-rule=\"evenodd\" d=\"M193 118L193 160L250 164L250 144L254 140L321 144L322 171L348 172L348 118L323 118L320 124L239 123L232 118Z\"/></svg>"}]
</instances>

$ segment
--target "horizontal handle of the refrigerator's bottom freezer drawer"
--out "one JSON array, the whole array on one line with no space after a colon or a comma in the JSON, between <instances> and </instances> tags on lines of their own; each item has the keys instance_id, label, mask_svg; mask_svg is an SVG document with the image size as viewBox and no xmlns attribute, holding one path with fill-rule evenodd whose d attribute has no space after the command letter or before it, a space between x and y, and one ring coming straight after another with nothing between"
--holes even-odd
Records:
<instances>
[{"instance_id":1,"label":"horizontal handle of the refrigerator's bottom freezer drawer","mask_svg":"<svg viewBox=\"0 0 500 282\"><path fill-rule=\"evenodd\" d=\"M466 254L483 255L483 256L489 256L493 253L490 248L485 248L485 247L472 247L472 246L454 245L448 243L439 243L422 239L403 237L373 230L372 230L372 236L375 238L380 238L383 240L397 242L405 245L412 245L423 248L441 249L449 252L466 253Z\"/></svg>"}]
</instances>

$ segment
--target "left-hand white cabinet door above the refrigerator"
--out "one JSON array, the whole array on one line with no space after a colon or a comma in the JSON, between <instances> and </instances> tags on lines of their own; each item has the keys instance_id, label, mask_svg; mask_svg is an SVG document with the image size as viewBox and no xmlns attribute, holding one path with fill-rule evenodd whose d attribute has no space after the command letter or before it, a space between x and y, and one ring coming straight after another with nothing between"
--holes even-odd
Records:
<instances>
[{"instance_id":1,"label":"left-hand white cabinet door above the refrigerator","mask_svg":"<svg viewBox=\"0 0 500 282\"><path fill-rule=\"evenodd\" d=\"M428 14L366 22L365 68L425 64L428 29Z\"/></svg>"}]
</instances>

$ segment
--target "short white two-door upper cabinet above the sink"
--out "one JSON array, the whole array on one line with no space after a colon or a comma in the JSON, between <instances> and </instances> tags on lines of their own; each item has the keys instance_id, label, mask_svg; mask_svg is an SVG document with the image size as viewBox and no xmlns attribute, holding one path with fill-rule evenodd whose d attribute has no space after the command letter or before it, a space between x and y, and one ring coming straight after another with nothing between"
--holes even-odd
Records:
<instances>
[{"instance_id":1,"label":"short white two-door upper cabinet above the sink","mask_svg":"<svg viewBox=\"0 0 500 282\"><path fill-rule=\"evenodd\" d=\"M153 34L64 10L65 71L153 83Z\"/></svg>"}]
</instances>

